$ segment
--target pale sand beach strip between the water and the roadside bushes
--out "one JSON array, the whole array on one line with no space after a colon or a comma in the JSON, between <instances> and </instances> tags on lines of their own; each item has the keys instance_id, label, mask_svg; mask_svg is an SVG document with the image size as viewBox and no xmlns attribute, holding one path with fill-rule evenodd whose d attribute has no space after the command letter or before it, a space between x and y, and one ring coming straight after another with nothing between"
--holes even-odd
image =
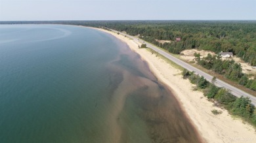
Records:
<instances>
[{"instance_id":1,"label":"pale sand beach strip between the water and the roadside bushes","mask_svg":"<svg viewBox=\"0 0 256 143\"><path fill-rule=\"evenodd\" d=\"M213 106L207 101L201 91L193 91L194 85L189 80L182 79L181 71L169 63L152 54L145 48L138 48L138 43L117 35L111 31L98 29L110 33L117 39L126 42L131 50L137 52L150 67L158 79L170 87L175 93L182 108L206 142L256 142L255 129L242 123L241 119L234 119L226 110ZM223 113L213 115L211 110L221 110Z\"/></svg>"}]
</instances>

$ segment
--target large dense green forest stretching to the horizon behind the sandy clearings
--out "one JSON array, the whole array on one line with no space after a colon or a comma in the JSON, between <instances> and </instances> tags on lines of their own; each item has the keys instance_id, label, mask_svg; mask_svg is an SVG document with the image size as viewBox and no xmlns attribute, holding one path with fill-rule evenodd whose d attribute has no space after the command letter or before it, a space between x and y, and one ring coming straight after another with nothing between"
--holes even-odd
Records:
<instances>
[{"instance_id":1,"label":"large dense green forest stretching to the horizon behind the sandy clearings","mask_svg":"<svg viewBox=\"0 0 256 143\"><path fill-rule=\"evenodd\" d=\"M179 54L184 49L198 48L218 52L233 52L250 65L256 66L255 21L55 21L0 22L0 24L70 24L108 27L139 35L169 52ZM177 37L181 41L175 42ZM160 43L158 40L173 42Z\"/></svg>"}]
</instances>

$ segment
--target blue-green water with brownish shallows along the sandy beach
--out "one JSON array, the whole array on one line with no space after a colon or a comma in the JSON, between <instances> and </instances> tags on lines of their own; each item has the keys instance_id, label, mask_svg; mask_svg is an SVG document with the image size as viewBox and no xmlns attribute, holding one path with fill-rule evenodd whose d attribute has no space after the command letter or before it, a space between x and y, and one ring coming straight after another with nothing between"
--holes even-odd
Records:
<instances>
[{"instance_id":1,"label":"blue-green water with brownish shallows along the sandy beach","mask_svg":"<svg viewBox=\"0 0 256 143\"><path fill-rule=\"evenodd\" d=\"M0 25L0 142L200 142L171 91L107 33Z\"/></svg>"}]
</instances>

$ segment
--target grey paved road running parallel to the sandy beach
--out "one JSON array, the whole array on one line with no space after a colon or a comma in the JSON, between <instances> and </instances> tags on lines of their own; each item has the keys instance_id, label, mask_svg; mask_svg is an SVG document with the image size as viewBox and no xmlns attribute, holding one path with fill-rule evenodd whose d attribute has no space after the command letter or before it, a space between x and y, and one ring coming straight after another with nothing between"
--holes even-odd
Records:
<instances>
[{"instance_id":1,"label":"grey paved road running parallel to the sandy beach","mask_svg":"<svg viewBox=\"0 0 256 143\"><path fill-rule=\"evenodd\" d=\"M112 31L115 31L115 30L112 30ZM115 31L115 32L119 32L119 31ZM121 32L119 32L119 33L121 35L125 35ZM206 80L211 82L211 79L213 78L213 76L201 71L200 69L197 69L196 67L193 67L192 65L189 65L188 63L185 63L184 61L181 61L181 59L177 59L177 57L171 56L167 52L164 52L160 48L156 48L156 46L154 46L144 40L137 39L136 37L132 37L130 35L126 35L126 36L137 41L137 42L145 43L148 48L151 48L152 50L158 52L162 56L165 56L167 59L170 59L171 61L175 62L177 65L181 65L181 67L187 69L188 71L194 71L196 74L203 76ZM231 91L231 93L233 95L235 95L236 97L241 97L241 96L249 97L249 99L251 99L251 103L256 106L256 97L253 97L253 95L250 95L249 93L245 93L244 91L242 91L234 86L231 86L230 84L227 84L226 82L223 82L222 80L219 80L219 79L216 80L215 85L218 87L224 87L226 89L229 89Z\"/></svg>"}]
</instances>

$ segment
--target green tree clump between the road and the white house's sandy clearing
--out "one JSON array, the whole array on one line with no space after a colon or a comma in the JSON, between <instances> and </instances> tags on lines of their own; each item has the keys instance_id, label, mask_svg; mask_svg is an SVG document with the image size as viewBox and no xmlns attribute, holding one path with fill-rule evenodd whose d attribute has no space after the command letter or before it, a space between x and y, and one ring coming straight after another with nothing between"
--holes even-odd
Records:
<instances>
[{"instance_id":1,"label":"green tree clump between the road and the white house's sandy clearing","mask_svg":"<svg viewBox=\"0 0 256 143\"><path fill-rule=\"evenodd\" d=\"M200 54L195 53L194 56L198 61L198 65L201 65L205 69L223 74L226 78L256 91L256 79L249 79L249 76L242 72L240 63L235 63L234 60L222 60L219 55L211 56L211 54L208 54L207 57L203 57L202 59L200 59Z\"/></svg>"}]
</instances>

